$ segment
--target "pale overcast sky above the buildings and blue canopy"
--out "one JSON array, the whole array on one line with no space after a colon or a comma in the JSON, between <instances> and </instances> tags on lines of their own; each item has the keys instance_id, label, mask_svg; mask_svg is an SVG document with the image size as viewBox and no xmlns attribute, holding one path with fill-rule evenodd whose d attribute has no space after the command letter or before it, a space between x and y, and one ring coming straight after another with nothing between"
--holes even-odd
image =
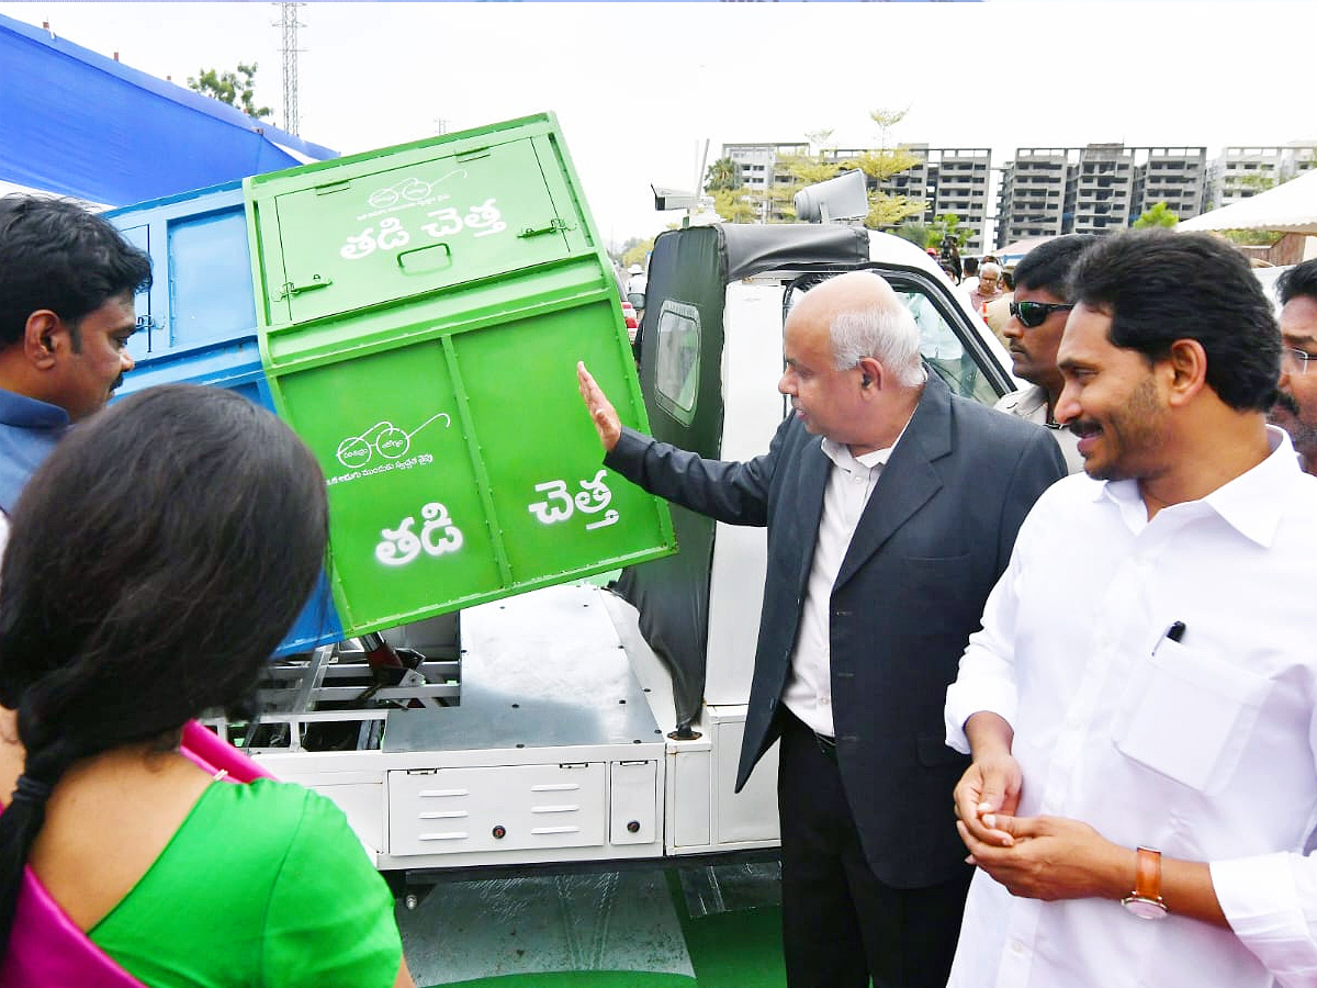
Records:
<instances>
[{"instance_id":1,"label":"pale overcast sky above the buildings and blue canopy","mask_svg":"<svg viewBox=\"0 0 1317 988\"><path fill-rule=\"evenodd\" d=\"M705 141L992 148L1284 144L1317 137L1317 16L1306 3L309 3L300 8L302 136L370 150L557 113L601 233L676 217L649 183L691 188ZM0 3L186 84L259 63L283 123L273 3ZM0 67L3 71L3 67Z\"/></svg>"}]
</instances>

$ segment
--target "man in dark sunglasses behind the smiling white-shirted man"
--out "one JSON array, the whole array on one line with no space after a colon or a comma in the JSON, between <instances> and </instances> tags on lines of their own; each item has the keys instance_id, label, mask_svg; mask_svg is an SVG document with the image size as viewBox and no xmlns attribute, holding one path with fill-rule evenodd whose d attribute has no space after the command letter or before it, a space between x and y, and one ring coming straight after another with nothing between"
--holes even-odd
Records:
<instances>
[{"instance_id":1,"label":"man in dark sunglasses behind the smiling white-shirted man","mask_svg":"<svg viewBox=\"0 0 1317 988\"><path fill-rule=\"evenodd\" d=\"M1056 348L1075 307L1065 281L1075 261L1096 240L1092 233L1072 233L1025 254L1015 265L1015 296L1004 331L1014 374L1030 386L1005 395L997 410L1046 425L1060 445L1069 473L1084 469L1084 457L1079 454L1079 436L1056 422L1056 399L1063 385Z\"/></svg>"}]
</instances>

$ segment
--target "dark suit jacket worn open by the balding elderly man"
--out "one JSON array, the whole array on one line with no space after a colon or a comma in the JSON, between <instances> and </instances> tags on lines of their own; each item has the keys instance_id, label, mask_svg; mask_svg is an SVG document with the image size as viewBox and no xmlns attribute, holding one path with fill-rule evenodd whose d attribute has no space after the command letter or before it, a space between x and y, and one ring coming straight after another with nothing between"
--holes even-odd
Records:
<instances>
[{"instance_id":1,"label":"dark suit jacket worn open by the balding elderly man","mask_svg":"<svg viewBox=\"0 0 1317 988\"><path fill-rule=\"evenodd\" d=\"M768 526L739 790L778 735L832 461L792 416L748 462L702 460L632 429L605 462L693 511ZM1021 522L1064 476L1046 429L930 375L860 518L832 589L832 717L865 856L889 885L932 885L963 867L951 792L968 759L943 743L947 686Z\"/></svg>"}]
</instances>

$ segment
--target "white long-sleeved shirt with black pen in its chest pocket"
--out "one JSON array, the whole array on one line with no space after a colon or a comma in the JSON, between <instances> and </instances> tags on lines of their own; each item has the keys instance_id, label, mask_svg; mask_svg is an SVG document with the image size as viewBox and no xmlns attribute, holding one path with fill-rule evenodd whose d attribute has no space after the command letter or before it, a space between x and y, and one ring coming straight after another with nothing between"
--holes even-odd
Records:
<instances>
[{"instance_id":1,"label":"white long-sleeved shirt with black pen in its chest pocket","mask_svg":"<svg viewBox=\"0 0 1317 988\"><path fill-rule=\"evenodd\" d=\"M1231 929L1014 898L980 871L950 988L1317 985L1317 477L1268 436L1151 522L1134 481L1052 486L947 690L951 747L980 710L1014 727L1019 815L1208 862Z\"/></svg>"}]
</instances>

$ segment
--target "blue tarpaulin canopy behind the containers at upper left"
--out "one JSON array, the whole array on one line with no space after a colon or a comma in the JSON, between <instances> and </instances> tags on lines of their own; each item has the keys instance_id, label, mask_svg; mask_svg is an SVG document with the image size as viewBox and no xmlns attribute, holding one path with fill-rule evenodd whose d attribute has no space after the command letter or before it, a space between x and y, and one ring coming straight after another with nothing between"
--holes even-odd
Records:
<instances>
[{"instance_id":1,"label":"blue tarpaulin canopy behind the containers at upper left","mask_svg":"<svg viewBox=\"0 0 1317 988\"><path fill-rule=\"evenodd\" d=\"M0 183L128 206L335 157L0 16Z\"/></svg>"}]
</instances>

